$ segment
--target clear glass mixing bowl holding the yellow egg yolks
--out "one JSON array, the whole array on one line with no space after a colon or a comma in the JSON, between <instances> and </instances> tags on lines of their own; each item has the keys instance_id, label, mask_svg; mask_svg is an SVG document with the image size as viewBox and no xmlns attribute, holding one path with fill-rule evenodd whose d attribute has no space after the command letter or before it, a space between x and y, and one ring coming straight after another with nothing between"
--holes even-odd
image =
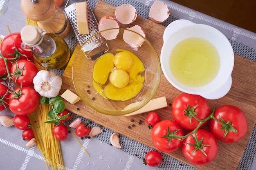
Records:
<instances>
[{"instance_id":1,"label":"clear glass mixing bowl holding the yellow egg yolks","mask_svg":"<svg viewBox=\"0 0 256 170\"><path fill-rule=\"evenodd\" d=\"M138 41L126 43L127 40L124 41L123 38L124 33L126 38L128 34L128 37L142 40L143 43L141 45L138 45ZM141 73L141 76L145 78L141 90L134 97L124 101L106 99L101 95L104 91L100 94L93 85L94 64L103 53L115 55L119 52L118 49L130 51L136 55L145 68L145 71ZM72 66L74 88L81 100L93 110L106 115L126 115L143 107L155 95L160 77L159 56L152 44L140 34L121 28L107 29L92 35L76 53Z\"/></svg>"}]
</instances>

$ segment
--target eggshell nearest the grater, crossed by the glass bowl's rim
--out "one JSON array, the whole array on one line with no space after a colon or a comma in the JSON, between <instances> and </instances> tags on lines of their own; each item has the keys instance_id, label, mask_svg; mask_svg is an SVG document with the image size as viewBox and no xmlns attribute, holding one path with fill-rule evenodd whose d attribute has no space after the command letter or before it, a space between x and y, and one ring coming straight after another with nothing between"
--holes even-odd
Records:
<instances>
[{"instance_id":1,"label":"eggshell nearest the grater, crossed by the glass bowl's rim","mask_svg":"<svg viewBox=\"0 0 256 170\"><path fill-rule=\"evenodd\" d=\"M103 31L106 29L114 29L110 31L105 31L101 33L101 36L103 36L107 40L113 40L117 37L119 30L115 28L120 28L120 24L117 20L117 18L110 16L110 15L105 15L99 20L99 31Z\"/></svg>"}]
</instances>

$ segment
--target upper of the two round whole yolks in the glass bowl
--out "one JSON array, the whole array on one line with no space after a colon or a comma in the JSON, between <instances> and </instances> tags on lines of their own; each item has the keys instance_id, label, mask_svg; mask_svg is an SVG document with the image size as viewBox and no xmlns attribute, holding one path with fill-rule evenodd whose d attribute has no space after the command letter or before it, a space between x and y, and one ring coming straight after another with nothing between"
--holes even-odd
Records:
<instances>
[{"instance_id":1,"label":"upper of the two round whole yolks in the glass bowl","mask_svg":"<svg viewBox=\"0 0 256 170\"><path fill-rule=\"evenodd\" d=\"M115 67L117 67L118 69L127 71L132 67L133 58L129 53L126 53L125 51L121 51L115 55L114 64L115 64Z\"/></svg>"}]
</instances>

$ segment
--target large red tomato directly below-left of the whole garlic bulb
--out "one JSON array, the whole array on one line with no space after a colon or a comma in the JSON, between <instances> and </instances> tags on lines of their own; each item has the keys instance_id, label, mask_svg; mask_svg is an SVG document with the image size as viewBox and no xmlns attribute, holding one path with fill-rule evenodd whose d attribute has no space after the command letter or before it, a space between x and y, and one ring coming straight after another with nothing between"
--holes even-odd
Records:
<instances>
[{"instance_id":1,"label":"large red tomato directly below-left of the whole garlic bulb","mask_svg":"<svg viewBox=\"0 0 256 170\"><path fill-rule=\"evenodd\" d=\"M28 115L36 110L39 103L38 93L29 86L18 87L14 90L14 94L9 95L9 108L16 115Z\"/></svg>"}]
</instances>

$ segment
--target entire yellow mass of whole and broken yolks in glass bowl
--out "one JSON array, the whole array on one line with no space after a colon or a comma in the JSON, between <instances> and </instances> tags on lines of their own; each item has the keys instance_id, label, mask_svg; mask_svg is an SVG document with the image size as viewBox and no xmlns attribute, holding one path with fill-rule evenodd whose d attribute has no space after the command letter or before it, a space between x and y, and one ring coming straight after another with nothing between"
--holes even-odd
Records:
<instances>
[{"instance_id":1,"label":"entire yellow mass of whole and broken yolks in glass bowl","mask_svg":"<svg viewBox=\"0 0 256 170\"><path fill-rule=\"evenodd\" d=\"M126 50L116 55L105 53L93 69L93 86L106 99L125 101L135 97L143 87L145 71L139 58ZM109 81L108 81L109 79Z\"/></svg>"}]
</instances>

